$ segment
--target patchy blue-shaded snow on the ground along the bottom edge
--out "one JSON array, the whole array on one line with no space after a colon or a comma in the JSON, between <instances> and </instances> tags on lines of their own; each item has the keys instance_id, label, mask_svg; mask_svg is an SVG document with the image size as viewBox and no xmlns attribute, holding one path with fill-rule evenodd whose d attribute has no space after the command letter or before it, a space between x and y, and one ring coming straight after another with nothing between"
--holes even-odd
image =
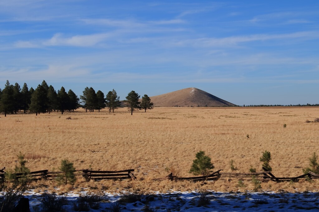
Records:
<instances>
[{"instance_id":1,"label":"patchy blue-shaded snow on the ground along the bottom edge","mask_svg":"<svg viewBox=\"0 0 319 212\"><path fill-rule=\"evenodd\" d=\"M85 194L85 192L82 192ZM109 208L119 200L116 193L105 193L105 201L100 203L100 209L90 211L110 211ZM64 211L73 210L79 193L65 194L68 205ZM159 193L145 196L141 201L121 203L122 211L319 211L319 193L274 193L274 192L238 192L225 193L210 191L211 200L207 205L199 205L195 191ZM39 198L41 194L29 191L25 197L29 199L31 212L41 211ZM150 210L145 210L146 208Z\"/></svg>"}]
</instances>

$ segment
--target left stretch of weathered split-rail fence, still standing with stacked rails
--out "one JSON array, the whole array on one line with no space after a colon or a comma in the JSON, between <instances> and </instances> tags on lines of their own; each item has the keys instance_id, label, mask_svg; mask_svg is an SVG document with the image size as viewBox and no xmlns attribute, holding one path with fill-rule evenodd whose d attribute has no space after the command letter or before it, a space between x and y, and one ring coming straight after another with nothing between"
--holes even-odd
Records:
<instances>
[{"instance_id":1,"label":"left stretch of weathered split-rail fence, still standing with stacked rails","mask_svg":"<svg viewBox=\"0 0 319 212\"><path fill-rule=\"evenodd\" d=\"M0 180L4 180L4 168L0 169ZM87 180L123 180L123 179L132 179L136 181L136 177L133 174L134 169L120 170L120 171L98 171L98 170L90 170L90 169L80 169L75 170L75 176L82 176ZM64 172L49 172L46 170L34 171L28 173L27 177L30 180L40 180L40 179L55 179L59 175ZM18 180L19 178L24 176L24 173L16 173L14 174L15 178Z\"/></svg>"}]
</instances>

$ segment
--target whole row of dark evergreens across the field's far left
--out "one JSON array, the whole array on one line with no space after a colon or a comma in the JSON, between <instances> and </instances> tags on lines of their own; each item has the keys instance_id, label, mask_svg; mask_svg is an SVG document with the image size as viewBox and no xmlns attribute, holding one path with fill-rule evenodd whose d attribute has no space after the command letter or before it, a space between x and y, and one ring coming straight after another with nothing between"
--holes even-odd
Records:
<instances>
[{"instance_id":1,"label":"whole row of dark evergreens across the field's far left","mask_svg":"<svg viewBox=\"0 0 319 212\"><path fill-rule=\"evenodd\" d=\"M115 109L121 106L120 97L117 96L116 91L113 89L108 94L104 95L102 91L95 92L92 87L86 87L83 91L83 95L80 95L82 105L80 105L80 99L70 89L65 91L62 86L60 90L56 92L52 85L48 85L45 80L42 84L34 90L32 87L28 89L26 83L24 83L22 89L18 83L11 85L7 80L3 90L0 88L0 113L4 113L6 116L8 113L17 113L23 111L24 113L51 113L52 111L61 112L74 111L79 107L85 108L85 111L94 112L108 107L109 112L114 112ZM126 100L126 106L129 108L131 114L134 110L152 109L153 103L151 99L145 94L142 97L142 101L139 101L140 96L131 91Z\"/></svg>"}]
</instances>

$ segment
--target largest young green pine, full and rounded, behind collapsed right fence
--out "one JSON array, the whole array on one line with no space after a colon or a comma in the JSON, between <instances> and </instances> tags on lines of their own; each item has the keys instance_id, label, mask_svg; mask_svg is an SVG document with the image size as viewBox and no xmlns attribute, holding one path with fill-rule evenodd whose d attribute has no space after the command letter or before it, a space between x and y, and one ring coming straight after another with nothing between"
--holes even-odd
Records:
<instances>
[{"instance_id":1,"label":"largest young green pine, full and rounded, behind collapsed right fence","mask_svg":"<svg viewBox=\"0 0 319 212\"><path fill-rule=\"evenodd\" d=\"M211 158L205 155L204 151L199 151L196 153L196 159L193 160L189 173L194 175L208 175L213 168L215 167L211 163Z\"/></svg>"}]
</instances>

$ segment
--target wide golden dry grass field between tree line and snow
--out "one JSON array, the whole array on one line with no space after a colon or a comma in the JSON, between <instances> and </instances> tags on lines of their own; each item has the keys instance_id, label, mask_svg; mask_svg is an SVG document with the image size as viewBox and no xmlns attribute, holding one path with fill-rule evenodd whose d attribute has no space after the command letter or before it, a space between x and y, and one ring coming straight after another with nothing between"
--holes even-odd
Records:
<instances>
[{"instance_id":1,"label":"wide golden dry grass field between tree line and snow","mask_svg":"<svg viewBox=\"0 0 319 212\"><path fill-rule=\"evenodd\" d=\"M0 117L1 167L14 168L21 151L31 171L57 170L61 159L72 161L76 169L135 169L137 182L91 182L109 189L140 186L159 191L193 190L197 183L152 179L165 177L171 170L179 176L193 176L188 172L199 150L211 157L214 170L223 172L231 172L230 160L238 169L234 172L249 172L251 166L259 171L259 157L268 150L272 173L277 177L303 174L311 154L319 154L319 123L305 123L319 117L318 107L156 107L146 113L134 112L133 116L126 108L115 113L78 109L63 115ZM204 188L230 191L238 189L236 183L224 179L208 182ZM251 189L249 180L245 184L245 189ZM83 186L90 185L83 182ZM262 187L319 190L316 180L267 182Z\"/></svg>"}]
</instances>

